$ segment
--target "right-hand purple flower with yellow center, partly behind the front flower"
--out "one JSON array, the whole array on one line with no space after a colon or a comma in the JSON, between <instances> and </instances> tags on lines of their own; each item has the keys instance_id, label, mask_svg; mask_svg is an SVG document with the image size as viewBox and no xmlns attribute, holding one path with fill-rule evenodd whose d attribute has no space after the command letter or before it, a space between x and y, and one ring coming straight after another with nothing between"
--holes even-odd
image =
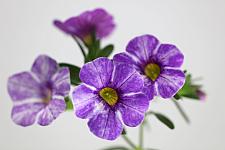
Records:
<instances>
[{"instance_id":1,"label":"right-hand purple flower with yellow center, partly behind the front flower","mask_svg":"<svg viewBox=\"0 0 225 150\"><path fill-rule=\"evenodd\" d=\"M160 44L152 35L135 37L128 43L126 52L113 59L134 65L145 76L144 92L149 99L155 95L171 98L185 82L185 75L179 69L183 54L174 45Z\"/></svg>"}]
</instances>

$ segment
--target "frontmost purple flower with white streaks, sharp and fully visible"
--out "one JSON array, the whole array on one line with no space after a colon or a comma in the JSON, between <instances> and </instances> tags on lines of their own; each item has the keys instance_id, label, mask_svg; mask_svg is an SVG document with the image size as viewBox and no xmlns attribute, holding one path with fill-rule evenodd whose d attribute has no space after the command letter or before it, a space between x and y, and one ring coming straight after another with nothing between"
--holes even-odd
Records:
<instances>
[{"instance_id":1,"label":"frontmost purple flower with white streaks, sharp and fully visible","mask_svg":"<svg viewBox=\"0 0 225 150\"><path fill-rule=\"evenodd\" d=\"M143 94L143 77L131 66L98 58L85 64L80 71L83 82L73 92L75 114L89 119L88 126L96 136L116 139L123 123L139 125L149 106Z\"/></svg>"}]
</instances>

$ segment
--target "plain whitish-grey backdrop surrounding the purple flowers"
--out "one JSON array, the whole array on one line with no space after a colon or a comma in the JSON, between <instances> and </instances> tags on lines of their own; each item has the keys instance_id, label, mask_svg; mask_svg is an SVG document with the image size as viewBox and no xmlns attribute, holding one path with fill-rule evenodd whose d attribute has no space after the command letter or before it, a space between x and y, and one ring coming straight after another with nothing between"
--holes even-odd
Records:
<instances>
[{"instance_id":1,"label":"plain whitish-grey backdrop surrounding the purple flowers","mask_svg":"<svg viewBox=\"0 0 225 150\"><path fill-rule=\"evenodd\" d=\"M12 102L7 78L29 70L39 54L60 62L82 65L81 53L53 19L66 19L84 10L103 7L114 15L117 28L104 44L117 52L141 34L153 34L164 43L176 44L185 55L183 69L202 76L208 93L205 102L184 100L191 118L187 125L173 103L158 100L151 109L166 113L175 123L170 130L150 118L146 147L160 150L225 150L225 1L223 0L0 0L0 149L1 150L98 150L125 144L110 142L89 132L86 120L73 112L62 114L47 127L23 128L10 118ZM137 141L137 128L128 136Z\"/></svg>"}]
</instances>

